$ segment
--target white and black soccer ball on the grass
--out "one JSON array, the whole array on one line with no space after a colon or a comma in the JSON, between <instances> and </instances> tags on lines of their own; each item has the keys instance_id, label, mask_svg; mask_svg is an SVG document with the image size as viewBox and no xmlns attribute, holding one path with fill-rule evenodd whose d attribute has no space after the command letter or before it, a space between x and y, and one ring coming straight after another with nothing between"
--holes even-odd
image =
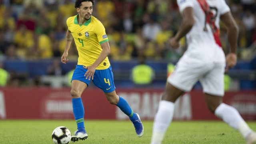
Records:
<instances>
[{"instance_id":1,"label":"white and black soccer ball on the grass","mask_svg":"<svg viewBox=\"0 0 256 144\"><path fill-rule=\"evenodd\" d=\"M52 141L55 144L68 144L71 140L71 132L65 126L59 126L52 132Z\"/></svg>"}]
</instances>

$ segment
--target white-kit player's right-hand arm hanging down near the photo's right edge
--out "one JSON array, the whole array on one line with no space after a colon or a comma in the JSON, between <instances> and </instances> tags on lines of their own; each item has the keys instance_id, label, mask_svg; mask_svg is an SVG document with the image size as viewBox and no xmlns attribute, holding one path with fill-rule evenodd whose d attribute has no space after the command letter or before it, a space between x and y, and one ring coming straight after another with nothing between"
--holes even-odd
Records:
<instances>
[{"instance_id":1,"label":"white-kit player's right-hand arm hanging down near the photo's right edge","mask_svg":"<svg viewBox=\"0 0 256 144\"><path fill-rule=\"evenodd\" d=\"M230 52L226 56L226 71L236 65L236 47L238 38L238 26L230 12L220 16L220 20L226 25L228 31L228 43L230 45Z\"/></svg>"}]
</instances>

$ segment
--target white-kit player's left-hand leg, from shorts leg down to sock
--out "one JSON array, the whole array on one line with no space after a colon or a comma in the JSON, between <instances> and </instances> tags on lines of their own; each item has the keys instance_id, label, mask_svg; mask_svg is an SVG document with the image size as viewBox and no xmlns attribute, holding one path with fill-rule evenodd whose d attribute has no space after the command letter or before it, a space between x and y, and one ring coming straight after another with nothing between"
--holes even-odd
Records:
<instances>
[{"instance_id":1,"label":"white-kit player's left-hand leg, from shorts leg down to sock","mask_svg":"<svg viewBox=\"0 0 256 144\"><path fill-rule=\"evenodd\" d=\"M168 84L164 90L162 100L154 118L151 144L161 144L164 134L172 122L174 114L174 102L185 91L190 91L197 82L202 66L196 66L192 60L182 59L174 72L168 78ZM204 68L204 67L202 67Z\"/></svg>"}]
</instances>

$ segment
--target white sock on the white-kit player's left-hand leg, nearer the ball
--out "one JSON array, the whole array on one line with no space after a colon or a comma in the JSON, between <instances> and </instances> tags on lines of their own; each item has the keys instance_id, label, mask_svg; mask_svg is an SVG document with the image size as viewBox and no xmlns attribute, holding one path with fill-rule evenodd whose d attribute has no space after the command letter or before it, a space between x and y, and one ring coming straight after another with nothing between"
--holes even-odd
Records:
<instances>
[{"instance_id":1,"label":"white sock on the white-kit player's left-hand leg, nearer the ball","mask_svg":"<svg viewBox=\"0 0 256 144\"><path fill-rule=\"evenodd\" d=\"M153 125L151 144L161 144L164 134L172 121L174 103L161 100L156 113Z\"/></svg>"}]
</instances>

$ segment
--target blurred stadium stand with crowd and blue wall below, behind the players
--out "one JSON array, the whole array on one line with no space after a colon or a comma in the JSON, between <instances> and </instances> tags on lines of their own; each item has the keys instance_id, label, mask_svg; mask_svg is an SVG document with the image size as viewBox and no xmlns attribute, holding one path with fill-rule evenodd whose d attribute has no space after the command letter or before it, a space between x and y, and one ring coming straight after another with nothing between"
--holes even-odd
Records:
<instances>
[{"instance_id":1,"label":"blurred stadium stand with crowd and blue wall below, behind the players","mask_svg":"<svg viewBox=\"0 0 256 144\"><path fill-rule=\"evenodd\" d=\"M238 86L231 85L231 90L255 89L256 2L226 2L240 29L238 64L228 72ZM15 81L8 82L8 86L44 85L40 77L48 76L47 68L54 59L60 59L66 19L75 14L74 0L0 0L0 60L10 72L10 80ZM93 15L106 27L116 86L133 86L130 70L143 55L156 72L152 86L164 86L168 62L175 64L186 50L185 39L179 50L172 50L166 41L179 27L176 0L96 0ZM222 24L220 36L227 53L226 28ZM69 59L66 65L60 64L63 77L76 64L74 44Z\"/></svg>"}]
</instances>

